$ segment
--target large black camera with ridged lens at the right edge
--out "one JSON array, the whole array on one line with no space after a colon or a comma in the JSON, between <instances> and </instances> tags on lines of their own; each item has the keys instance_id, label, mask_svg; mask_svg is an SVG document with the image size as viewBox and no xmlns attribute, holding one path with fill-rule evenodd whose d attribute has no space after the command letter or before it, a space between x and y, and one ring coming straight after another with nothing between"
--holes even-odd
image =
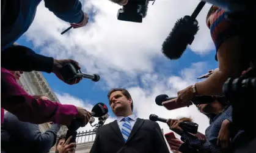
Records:
<instances>
[{"instance_id":1,"label":"large black camera with ridged lens at the right edge","mask_svg":"<svg viewBox=\"0 0 256 153\"><path fill-rule=\"evenodd\" d=\"M241 77L227 79L222 90L233 107L234 126L255 133L256 126L251 123L256 109L256 69L250 69Z\"/></svg>"}]
</instances>

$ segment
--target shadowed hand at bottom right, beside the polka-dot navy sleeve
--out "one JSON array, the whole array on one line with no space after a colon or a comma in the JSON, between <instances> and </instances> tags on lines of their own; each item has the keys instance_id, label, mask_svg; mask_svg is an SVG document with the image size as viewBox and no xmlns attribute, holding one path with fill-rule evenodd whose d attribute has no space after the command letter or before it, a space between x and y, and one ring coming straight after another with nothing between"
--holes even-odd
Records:
<instances>
[{"instance_id":1,"label":"shadowed hand at bottom right, beside the polka-dot navy sleeve","mask_svg":"<svg viewBox=\"0 0 256 153\"><path fill-rule=\"evenodd\" d=\"M230 121L225 119L221 124L221 130L219 130L217 145L222 149L228 149L230 144Z\"/></svg>"}]
</instances>

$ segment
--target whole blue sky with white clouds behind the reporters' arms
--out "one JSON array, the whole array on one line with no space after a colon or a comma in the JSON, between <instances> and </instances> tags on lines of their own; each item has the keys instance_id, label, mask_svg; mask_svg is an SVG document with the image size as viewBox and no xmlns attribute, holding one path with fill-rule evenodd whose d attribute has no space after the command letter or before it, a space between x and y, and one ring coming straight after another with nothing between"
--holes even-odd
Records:
<instances>
[{"instance_id":1,"label":"whole blue sky with white clouds behind the reporters' arms","mask_svg":"<svg viewBox=\"0 0 256 153\"><path fill-rule=\"evenodd\" d=\"M199 1L156 0L148 7L143 23L117 20L119 5L108 0L82 1L84 12L89 13L86 27L71 29L64 35L68 23L59 20L42 2L37 9L34 23L18 43L33 48L40 54L56 59L77 60L84 73L98 73L97 83L82 80L77 85L66 85L54 76L43 74L60 102L92 109L97 102L108 104L110 88L123 87L130 91L134 113L148 119L151 113L163 118L191 116L204 133L208 119L192 106L168 111L155 104L158 94L177 96L177 91L199 81L197 76L218 66L214 61L214 45L205 17L210 5L205 5L197 17L200 30L191 46L179 60L169 60L161 52L161 44L177 21L191 15ZM111 117L108 122L115 119ZM164 133L166 124L159 123ZM81 130L92 129L86 126Z\"/></svg>"}]
</instances>

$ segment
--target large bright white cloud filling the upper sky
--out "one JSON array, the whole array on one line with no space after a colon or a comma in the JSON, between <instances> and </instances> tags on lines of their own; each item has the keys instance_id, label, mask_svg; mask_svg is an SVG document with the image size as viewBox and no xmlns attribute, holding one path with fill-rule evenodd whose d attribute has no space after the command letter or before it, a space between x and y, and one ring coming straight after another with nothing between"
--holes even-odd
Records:
<instances>
[{"instance_id":1,"label":"large bright white cloud filling the upper sky","mask_svg":"<svg viewBox=\"0 0 256 153\"><path fill-rule=\"evenodd\" d=\"M131 23L117 20L120 6L108 0L82 2L85 12L95 12L95 22L60 35L69 25L57 19L42 2L26 37L35 47L42 48L43 54L78 60L86 71L100 73L111 87L123 81L119 79L123 77L123 72L129 81L136 77L136 73L152 73L152 58L163 56L161 44L175 21L191 15L199 3L191 0L158 0L151 5L150 2L143 23ZM210 32L205 26L209 7L207 4L197 18L200 30L191 46L192 51L199 54L213 47Z\"/></svg>"}]
</instances>

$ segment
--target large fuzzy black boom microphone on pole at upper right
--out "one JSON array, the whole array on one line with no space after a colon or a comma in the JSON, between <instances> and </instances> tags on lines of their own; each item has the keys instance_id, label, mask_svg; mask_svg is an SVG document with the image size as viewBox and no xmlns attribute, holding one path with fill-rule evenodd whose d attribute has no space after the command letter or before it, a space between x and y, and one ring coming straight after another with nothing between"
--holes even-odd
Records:
<instances>
[{"instance_id":1,"label":"large fuzzy black boom microphone on pole at upper right","mask_svg":"<svg viewBox=\"0 0 256 153\"><path fill-rule=\"evenodd\" d=\"M192 44L195 38L194 35L196 35L199 30L196 17L199 15L204 5L205 2L200 1L191 16L186 15L175 23L172 32L170 32L162 44L163 54L168 59L180 59L188 44Z\"/></svg>"}]
</instances>

